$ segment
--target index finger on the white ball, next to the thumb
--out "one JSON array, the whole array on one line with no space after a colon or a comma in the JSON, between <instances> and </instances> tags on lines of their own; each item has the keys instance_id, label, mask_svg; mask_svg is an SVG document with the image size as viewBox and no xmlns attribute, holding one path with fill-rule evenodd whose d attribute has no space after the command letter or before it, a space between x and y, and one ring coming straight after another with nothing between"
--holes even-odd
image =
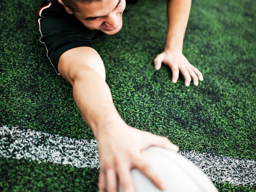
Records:
<instances>
[{"instance_id":1,"label":"index finger on the white ball, next to the thumb","mask_svg":"<svg viewBox=\"0 0 256 192\"><path fill-rule=\"evenodd\" d=\"M166 189L166 181L158 172L141 156L134 161L134 165L140 172L147 176L160 190Z\"/></svg>"}]
</instances>

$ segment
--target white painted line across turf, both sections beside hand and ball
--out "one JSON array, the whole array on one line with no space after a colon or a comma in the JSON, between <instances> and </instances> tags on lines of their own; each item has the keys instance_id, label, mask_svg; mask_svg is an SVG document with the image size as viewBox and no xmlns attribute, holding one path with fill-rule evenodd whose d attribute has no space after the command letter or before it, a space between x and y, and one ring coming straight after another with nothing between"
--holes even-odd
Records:
<instances>
[{"instance_id":1,"label":"white painted line across turf, both sections beside hand and ball","mask_svg":"<svg viewBox=\"0 0 256 192\"><path fill-rule=\"evenodd\" d=\"M0 157L99 168L97 141L76 140L45 132L0 127ZM214 183L256 184L256 161L194 151L180 151Z\"/></svg>"}]
</instances>

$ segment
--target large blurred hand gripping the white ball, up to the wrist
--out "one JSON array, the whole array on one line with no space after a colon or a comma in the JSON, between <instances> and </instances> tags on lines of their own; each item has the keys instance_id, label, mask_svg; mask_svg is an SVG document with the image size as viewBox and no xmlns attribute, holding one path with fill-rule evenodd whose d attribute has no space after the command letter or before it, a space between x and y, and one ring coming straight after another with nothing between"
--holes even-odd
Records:
<instances>
[{"instance_id":1,"label":"large blurred hand gripping the white ball, up to the wrist","mask_svg":"<svg viewBox=\"0 0 256 192\"><path fill-rule=\"evenodd\" d=\"M137 168L159 189L164 190L164 178L142 157L142 150L159 146L174 152L179 148L167 138L141 131L124 122L106 124L97 135L100 156L99 192L135 192L131 169Z\"/></svg>"}]
</instances>

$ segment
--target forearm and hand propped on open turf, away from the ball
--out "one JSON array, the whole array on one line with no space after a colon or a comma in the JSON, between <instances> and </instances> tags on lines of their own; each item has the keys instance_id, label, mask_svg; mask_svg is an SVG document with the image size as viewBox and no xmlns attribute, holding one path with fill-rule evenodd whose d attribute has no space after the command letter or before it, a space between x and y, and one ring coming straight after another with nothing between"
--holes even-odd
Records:
<instances>
[{"instance_id":1,"label":"forearm and hand propped on open turf, away from the ball","mask_svg":"<svg viewBox=\"0 0 256 192\"><path fill-rule=\"evenodd\" d=\"M191 0L168 0L166 46L164 52L156 57L154 64L157 70L160 69L162 62L168 65L172 70L172 82L177 82L180 71L185 78L186 86L190 85L191 78L197 86L198 78L201 81L203 80L202 73L190 64L182 54L190 7Z\"/></svg>"}]
</instances>

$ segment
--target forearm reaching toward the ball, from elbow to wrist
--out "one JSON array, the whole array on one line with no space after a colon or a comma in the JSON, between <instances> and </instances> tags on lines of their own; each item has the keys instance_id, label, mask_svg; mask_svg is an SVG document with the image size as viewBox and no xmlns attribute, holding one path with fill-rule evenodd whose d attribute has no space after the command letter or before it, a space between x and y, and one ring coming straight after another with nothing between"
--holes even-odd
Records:
<instances>
[{"instance_id":1,"label":"forearm reaching toward the ball, from elbow to wrist","mask_svg":"<svg viewBox=\"0 0 256 192\"><path fill-rule=\"evenodd\" d=\"M110 89L97 72L86 69L74 78L73 96L82 118L97 138L98 132L112 122L121 122Z\"/></svg>"}]
</instances>

